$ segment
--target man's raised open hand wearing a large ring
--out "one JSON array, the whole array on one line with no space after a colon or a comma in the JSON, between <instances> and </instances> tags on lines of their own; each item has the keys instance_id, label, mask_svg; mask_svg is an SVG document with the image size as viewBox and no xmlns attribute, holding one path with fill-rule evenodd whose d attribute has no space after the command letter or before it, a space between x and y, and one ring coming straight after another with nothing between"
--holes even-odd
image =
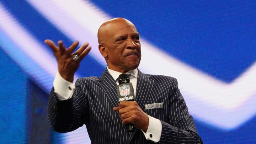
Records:
<instances>
[{"instance_id":1,"label":"man's raised open hand wearing a large ring","mask_svg":"<svg viewBox=\"0 0 256 144\"><path fill-rule=\"evenodd\" d=\"M83 44L78 50L75 48L78 46L79 42L75 41L67 49L62 41L58 41L58 47L50 39L44 41L53 51L55 58L58 63L58 71L62 78L67 81L73 82L74 74L78 70L81 60L90 52L91 46L89 43ZM73 53L74 52L74 53ZM74 55L78 57L74 58Z\"/></svg>"}]
</instances>

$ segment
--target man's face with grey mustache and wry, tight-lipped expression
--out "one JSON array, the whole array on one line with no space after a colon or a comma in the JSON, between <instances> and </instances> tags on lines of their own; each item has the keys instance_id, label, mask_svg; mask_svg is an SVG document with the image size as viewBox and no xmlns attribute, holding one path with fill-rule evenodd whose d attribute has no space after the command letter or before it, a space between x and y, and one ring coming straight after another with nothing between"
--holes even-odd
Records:
<instances>
[{"instance_id":1,"label":"man's face with grey mustache and wry, tight-lipped expression","mask_svg":"<svg viewBox=\"0 0 256 144\"><path fill-rule=\"evenodd\" d=\"M125 73L139 66L141 59L139 33L132 23L118 21L108 26L103 42L108 67Z\"/></svg>"}]
</instances>

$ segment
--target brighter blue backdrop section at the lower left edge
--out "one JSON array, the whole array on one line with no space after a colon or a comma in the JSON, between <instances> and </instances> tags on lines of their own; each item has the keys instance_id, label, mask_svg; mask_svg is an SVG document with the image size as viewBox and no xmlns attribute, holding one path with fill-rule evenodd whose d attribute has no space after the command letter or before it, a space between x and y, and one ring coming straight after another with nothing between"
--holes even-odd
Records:
<instances>
[{"instance_id":1,"label":"brighter blue backdrop section at the lower left edge","mask_svg":"<svg viewBox=\"0 0 256 144\"><path fill-rule=\"evenodd\" d=\"M27 75L0 48L0 141L26 143Z\"/></svg>"}]
</instances>

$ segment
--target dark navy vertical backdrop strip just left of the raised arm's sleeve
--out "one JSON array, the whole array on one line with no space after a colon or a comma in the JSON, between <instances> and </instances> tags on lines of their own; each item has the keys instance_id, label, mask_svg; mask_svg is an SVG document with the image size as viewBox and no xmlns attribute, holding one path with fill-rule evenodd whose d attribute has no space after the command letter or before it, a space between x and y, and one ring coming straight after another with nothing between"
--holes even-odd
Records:
<instances>
[{"instance_id":1,"label":"dark navy vertical backdrop strip just left of the raised arm's sleeve","mask_svg":"<svg viewBox=\"0 0 256 144\"><path fill-rule=\"evenodd\" d=\"M47 118L48 93L32 80L27 80L26 127L30 144L51 143L51 130Z\"/></svg>"}]
</instances>

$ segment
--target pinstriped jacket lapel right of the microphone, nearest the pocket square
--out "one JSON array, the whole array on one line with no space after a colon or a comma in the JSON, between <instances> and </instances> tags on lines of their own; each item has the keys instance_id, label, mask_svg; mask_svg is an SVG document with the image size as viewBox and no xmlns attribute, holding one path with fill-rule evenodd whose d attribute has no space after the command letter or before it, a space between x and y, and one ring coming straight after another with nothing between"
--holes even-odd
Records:
<instances>
[{"instance_id":1,"label":"pinstriped jacket lapel right of the microphone, nearest the pocket square","mask_svg":"<svg viewBox=\"0 0 256 144\"><path fill-rule=\"evenodd\" d=\"M138 70L138 79L137 79L137 90L136 90L136 96L135 101L138 103L140 108L142 108L143 111L145 111L145 104L148 102L151 90L154 85L154 81L150 79L151 77L149 75L143 74ZM129 143L132 140L134 134L138 131L138 129L134 130L130 134L129 137Z\"/></svg>"}]
</instances>

